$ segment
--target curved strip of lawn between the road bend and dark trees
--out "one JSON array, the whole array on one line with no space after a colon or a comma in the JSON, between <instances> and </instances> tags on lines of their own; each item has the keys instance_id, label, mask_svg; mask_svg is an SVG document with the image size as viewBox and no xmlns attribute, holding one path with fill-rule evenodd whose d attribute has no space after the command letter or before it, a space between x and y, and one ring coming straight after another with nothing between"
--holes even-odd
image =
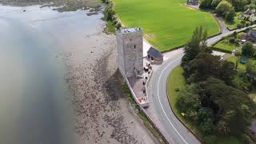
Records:
<instances>
[{"instance_id":1,"label":"curved strip of lawn between the road bend and dark trees","mask_svg":"<svg viewBox=\"0 0 256 144\"><path fill-rule=\"evenodd\" d=\"M203 143L206 144L241 144L238 138L234 136L223 136L221 134L211 134L206 135L202 134L202 132L198 129L198 126L191 122L189 119L186 119L182 116L181 112L178 109L177 101L178 101L178 91L176 89L182 90L185 86L185 78L183 77L182 66L177 66L174 70L171 71L168 79L167 79L167 93L170 101L170 106L174 110L174 113L178 116L182 122L186 124L187 127L190 128L202 140Z\"/></svg>"}]
</instances>

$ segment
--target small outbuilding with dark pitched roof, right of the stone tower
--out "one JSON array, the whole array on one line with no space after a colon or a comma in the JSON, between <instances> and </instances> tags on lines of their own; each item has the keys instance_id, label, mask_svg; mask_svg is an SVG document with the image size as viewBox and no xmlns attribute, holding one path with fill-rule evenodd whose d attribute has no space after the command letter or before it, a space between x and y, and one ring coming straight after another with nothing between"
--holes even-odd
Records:
<instances>
[{"instance_id":1,"label":"small outbuilding with dark pitched roof, right of the stone tower","mask_svg":"<svg viewBox=\"0 0 256 144\"><path fill-rule=\"evenodd\" d=\"M150 47L150 50L147 51L147 58L154 64L160 64L163 61L162 53L154 47Z\"/></svg>"}]
</instances>

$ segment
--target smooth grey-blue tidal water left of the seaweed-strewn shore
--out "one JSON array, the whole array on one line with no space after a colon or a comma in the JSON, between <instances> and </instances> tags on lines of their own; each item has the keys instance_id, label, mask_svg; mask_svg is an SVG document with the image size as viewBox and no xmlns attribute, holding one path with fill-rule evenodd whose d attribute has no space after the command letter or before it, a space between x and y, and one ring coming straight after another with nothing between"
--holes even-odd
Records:
<instances>
[{"instance_id":1,"label":"smooth grey-blue tidal water left of the seaweed-strewn shore","mask_svg":"<svg viewBox=\"0 0 256 144\"><path fill-rule=\"evenodd\" d=\"M0 143L76 143L59 55L90 33L101 15L40 6L0 6ZM81 42L82 44L82 42Z\"/></svg>"}]
</instances>

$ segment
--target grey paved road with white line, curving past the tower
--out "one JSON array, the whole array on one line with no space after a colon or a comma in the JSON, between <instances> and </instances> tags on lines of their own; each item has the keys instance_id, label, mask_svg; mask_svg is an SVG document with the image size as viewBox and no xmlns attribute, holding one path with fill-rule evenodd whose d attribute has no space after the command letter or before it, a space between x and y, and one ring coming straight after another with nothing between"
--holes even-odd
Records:
<instances>
[{"instance_id":1,"label":"grey paved road with white line, curving past the tower","mask_svg":"<svg viewBox=\"0 0 256 144\"><path fill-rule=\"evenodd\" d=\"M245 29L246 28L233 31L224 30L222 34L214 38L209 38L207 43L211 45L214 42L218 42L222 37L234 33L234 31L239 32ZM168 53L164 55L168 55ZM154 115L158 121L156 125L160 127L160 130L169 142L175 144L198 144L200 143L198 139L175 117L170 109L166 94L167 77L171 70L180 64L182 56L183 49L171 51L169 52L169 58L154 70L147 89L150 98L150 110L154 111Z\"/></svg>"}]
</instances>

